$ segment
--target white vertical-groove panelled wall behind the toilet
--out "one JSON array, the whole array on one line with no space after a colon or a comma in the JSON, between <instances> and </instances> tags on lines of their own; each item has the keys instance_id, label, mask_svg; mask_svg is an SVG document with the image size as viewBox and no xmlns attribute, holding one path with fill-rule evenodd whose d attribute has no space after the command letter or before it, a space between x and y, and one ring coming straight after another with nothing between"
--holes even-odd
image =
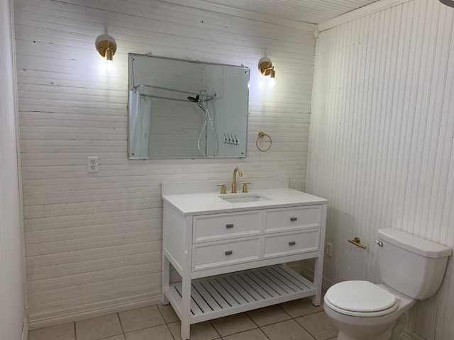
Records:
<instances>
[{"instance_id":1,"label":"white vertical-groove panelled wall behind the toilet","mask_svg":"<svg viewBox=\"0 0 454 340\"><path fill-rule=\"evenodd\" d=\"M330 200L331 283L380 280L382 227L454 245L453 21L454 8L414 0L319 35L308 191ZM411 310L412 339L454 339L453 263Z\"/></svg>"}]
</instances>

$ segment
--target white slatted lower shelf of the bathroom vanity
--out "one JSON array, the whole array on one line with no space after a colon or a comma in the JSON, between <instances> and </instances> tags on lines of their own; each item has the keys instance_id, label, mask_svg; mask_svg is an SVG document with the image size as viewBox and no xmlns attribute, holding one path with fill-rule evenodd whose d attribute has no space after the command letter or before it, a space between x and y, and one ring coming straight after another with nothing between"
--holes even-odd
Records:
<instances>
[{"instance_id":1,"label":"white slatted lower shelf of the bathroom vanity","mask_svg":"<svg viewBox=\"0 0 454 340\"><path fill-rule=\"evenodd\" d=\"M182 283L169 285L166 293L175 310L182 314ZM190 323L315 294L314 283L284 265L199 278L191 282Z\"/></svg>"}]
</instances>

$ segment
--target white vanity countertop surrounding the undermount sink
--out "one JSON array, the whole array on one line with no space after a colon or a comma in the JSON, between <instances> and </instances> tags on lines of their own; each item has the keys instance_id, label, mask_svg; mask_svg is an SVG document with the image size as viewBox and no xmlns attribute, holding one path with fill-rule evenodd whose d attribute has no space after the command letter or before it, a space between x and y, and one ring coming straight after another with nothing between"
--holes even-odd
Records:
<instances>
[{"instance_id":1,"label":"white vanity countertop surrounding the undermount sink","mask_svg":"<svg viewBox=\"0 0 454 340\"><path fill-rule=\"evenodd\" d=\"M233 212L243 210L286 208L295 205L314 205L328 203L328 200L317 196L303 193L291 188L263 188L251 190L248 194L258 193L270 198L259 202L229 203L223 200L218 191L208 193L177 193L164 194L162 199L173 205L184 216L215 214L220 212ZM236 193L234 195L245 195ZM227 194L226 196L231 196Z\"/></svg>"}]
</instances>

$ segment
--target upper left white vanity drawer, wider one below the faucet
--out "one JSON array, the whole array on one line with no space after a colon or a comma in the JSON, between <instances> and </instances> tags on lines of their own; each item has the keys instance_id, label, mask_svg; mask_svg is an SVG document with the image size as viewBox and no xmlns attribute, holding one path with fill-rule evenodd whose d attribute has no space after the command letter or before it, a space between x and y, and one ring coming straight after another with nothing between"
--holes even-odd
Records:
<instances>
[{"instance_id":1,"label":"upper left white vanity drawer, wider one below the faucet","mask_svg":"<svg viewBox=\"0 0 454 340\"><path fill-rule=\"evenodd\" d=\"M194 216L192 243L258 235L262 230L262 216L260 210Z\"/></svg>"}]
</instances>

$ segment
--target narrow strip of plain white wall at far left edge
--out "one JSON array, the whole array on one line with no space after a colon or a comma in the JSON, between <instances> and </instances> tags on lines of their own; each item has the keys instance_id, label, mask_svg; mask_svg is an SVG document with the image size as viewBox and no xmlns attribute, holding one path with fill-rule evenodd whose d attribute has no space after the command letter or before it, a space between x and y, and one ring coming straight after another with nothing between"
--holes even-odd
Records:
<instances>
[{"instance_id":1,"label":"narrow strip of plain white wall at far left edge","mask_svg":"<svg viewBox=\"0 0 454 340\"><path fill-rule=\"evenodd\" d=\"M21 339L25 317L13 29L13 1L0 1L0 340Z\"/></svg>"}]
</instances>

